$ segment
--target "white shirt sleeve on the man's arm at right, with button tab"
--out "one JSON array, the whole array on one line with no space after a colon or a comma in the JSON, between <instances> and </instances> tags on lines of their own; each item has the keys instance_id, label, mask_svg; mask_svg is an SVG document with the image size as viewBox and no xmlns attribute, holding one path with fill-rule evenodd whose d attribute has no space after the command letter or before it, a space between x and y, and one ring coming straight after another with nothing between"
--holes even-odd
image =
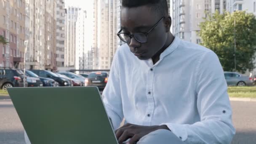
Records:
<instances>
[{"instance_id":1,"label":"white shirt sleeve on the man's arm at right, with button tab","mask_svg":"<svg viewBox=\"0 0 256 144\"><path fill-rule=\"evenodd\" d=\"M230 144L235 128L223 69L212 51L205 53L198 64L196 93L200 122L161 125L167 125L187 144Z\"/></svg>"}]
</instances>

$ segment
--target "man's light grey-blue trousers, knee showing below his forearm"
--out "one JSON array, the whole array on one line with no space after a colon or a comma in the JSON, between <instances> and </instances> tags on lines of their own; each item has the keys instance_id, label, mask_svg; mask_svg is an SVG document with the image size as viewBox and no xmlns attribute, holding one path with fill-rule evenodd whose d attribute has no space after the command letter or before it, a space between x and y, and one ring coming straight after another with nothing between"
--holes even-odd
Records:
<instances>
[{"instance_id":1,"label":"man's light grey-blue trousers, knee showing below his forearm","mask_svg":"<svg viewBox=\"0 0 256 144\"><path fill-rule=\"evenodd\" d=\"M24 132L26 144L31 144ZM142 137L137 144L184 144L177 136L168 130L157 130Z\"/></svg>"}]
</instances>

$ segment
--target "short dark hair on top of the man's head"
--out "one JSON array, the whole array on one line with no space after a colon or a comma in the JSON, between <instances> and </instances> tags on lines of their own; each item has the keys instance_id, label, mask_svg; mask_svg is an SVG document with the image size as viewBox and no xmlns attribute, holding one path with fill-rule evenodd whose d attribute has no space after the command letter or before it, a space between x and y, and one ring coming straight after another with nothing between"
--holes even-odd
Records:
<instances>
[{"instance_id":1,"label":"short dark hair on top of the man's head","mask_svg":"<svg viewBox=\"0 0 256 144\"><path fill-rule=\"evenodd\" d=\"M122 6L127 8L136 8L148 5L153 12L160 16L168 16L168 3L166 0L122 0Z\"/></svg>"}]
</instances>

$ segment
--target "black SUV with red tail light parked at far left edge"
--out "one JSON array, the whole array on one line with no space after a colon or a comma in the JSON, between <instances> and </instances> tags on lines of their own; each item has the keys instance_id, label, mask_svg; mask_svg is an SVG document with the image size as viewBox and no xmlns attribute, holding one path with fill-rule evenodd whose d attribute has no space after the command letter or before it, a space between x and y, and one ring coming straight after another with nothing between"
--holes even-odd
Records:
<instances>
[{"instance_id":1,"label":"black SUV with red tail light parked at far left edge","mask_svg":"<svg viewBox=\"0 0 256 144\"><path fill-rule=\"evenodd\" d=\"M7 88L11 87L23 87L24 83L27 87L27 77L25 77L25 82L23 81L24 74L19 69L11 68L0 68L0 88L6 91Z\"/></svg>"}]
</instances>

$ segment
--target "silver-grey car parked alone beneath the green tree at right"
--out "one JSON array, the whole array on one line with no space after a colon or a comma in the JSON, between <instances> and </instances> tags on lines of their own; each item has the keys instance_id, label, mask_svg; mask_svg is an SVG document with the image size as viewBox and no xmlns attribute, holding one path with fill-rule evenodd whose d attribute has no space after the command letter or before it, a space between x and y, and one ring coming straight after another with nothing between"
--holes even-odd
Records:
<instances>
[{"instance_id":1,"label":"silver-grey car parked alone beneath the green tree at right","mask_svg":"<svg viewBox=\"0 0 256 144\"><path fill-rule=\"evenodd\" d=\"M252 85L253 81L248 76L243 76L238 72L224 72L227 85L229 86L245 86Z\"/></svg>"}]
</instances>

